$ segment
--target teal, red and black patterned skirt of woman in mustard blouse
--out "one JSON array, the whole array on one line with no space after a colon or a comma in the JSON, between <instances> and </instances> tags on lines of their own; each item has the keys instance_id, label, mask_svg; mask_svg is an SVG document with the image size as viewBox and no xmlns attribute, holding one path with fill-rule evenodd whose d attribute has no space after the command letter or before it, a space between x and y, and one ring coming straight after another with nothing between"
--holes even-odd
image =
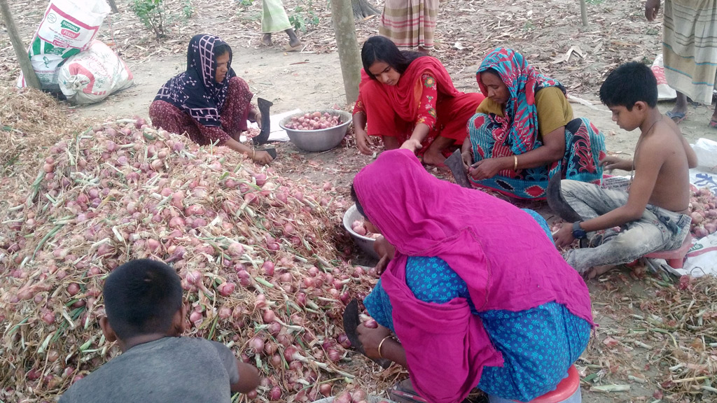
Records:
<instances>
[{"instance_id":1,"label":"teal, red and black patterned skirt of woman in mustard blouse","mask_svg":"<svg viewBox=\"0 0 717 403\"><path fill-rule=\"evenodd\" d=\"M476 113L468 121L468 135L473 147L473 160L513 156L509 145L498 144L493 131L503 131L495 115ZM540 146L536 141L536 148ZM560 174L563 179L602 183L600 160L605 156L605 140L602 133L586 118L573 119L565 125L565 155L550 166L512 169L498 172L493 178L475 181L476 187L493 189L518 199L545 199L549 179Z\"/></svg>"}]
</instances>

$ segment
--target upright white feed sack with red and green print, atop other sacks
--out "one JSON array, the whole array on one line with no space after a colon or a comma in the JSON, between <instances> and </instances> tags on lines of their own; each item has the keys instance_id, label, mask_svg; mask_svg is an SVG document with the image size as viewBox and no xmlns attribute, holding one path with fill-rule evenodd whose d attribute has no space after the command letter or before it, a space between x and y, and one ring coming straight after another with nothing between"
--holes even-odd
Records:
<instances>
[{"instance_id":1,"label":"upright white feed sack with red and green print, atop other sacks","mask_svg":"<svg viewBox=\"0 0 717 403\"><path fill-rule=\"evenodd\" d=\"M28 55L43 90L59 91L57 68L87 49L110 6L105 0L51 0L32 37ZM25 87L22 74L18 87Z\"/></svg>"}]
</instances>

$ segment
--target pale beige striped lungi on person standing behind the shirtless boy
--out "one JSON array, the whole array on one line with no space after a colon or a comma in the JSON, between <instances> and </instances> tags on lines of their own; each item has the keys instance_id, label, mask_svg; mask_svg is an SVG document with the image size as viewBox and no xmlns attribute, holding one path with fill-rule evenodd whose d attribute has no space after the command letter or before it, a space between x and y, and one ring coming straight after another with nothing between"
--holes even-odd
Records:
<instances>
[{"instance_id":1,"label":"pale beige striped lungi on person standing behind the shirtless boy","mask_svg":"<svg viewBox=\"0 0 717 403\"><path fill-rule=\"evenodd\" d=\"M712 103L717 75L717 0L665 0L663 62L670 87Z\"/></svg>"}]
</instances>

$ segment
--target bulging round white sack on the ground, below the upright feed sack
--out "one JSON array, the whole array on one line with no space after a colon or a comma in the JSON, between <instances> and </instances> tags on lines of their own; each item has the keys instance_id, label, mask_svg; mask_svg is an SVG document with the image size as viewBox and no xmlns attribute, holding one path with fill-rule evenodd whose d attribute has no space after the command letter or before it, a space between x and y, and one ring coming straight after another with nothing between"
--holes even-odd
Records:
<instances>
[{"instance_id":1,"label":"bulging round white sack on the ground, below the upright feed sack","mask_svg":"<svg viewBox=\"0 0 717 403\"><path fill-rule=\"evenodd\" d=\"M132 86L133 80L125 62L100 41L92 41L87 50L67 59L57 72L62 93L80 105L100 102Z\"/></svg>"}]
</instances>

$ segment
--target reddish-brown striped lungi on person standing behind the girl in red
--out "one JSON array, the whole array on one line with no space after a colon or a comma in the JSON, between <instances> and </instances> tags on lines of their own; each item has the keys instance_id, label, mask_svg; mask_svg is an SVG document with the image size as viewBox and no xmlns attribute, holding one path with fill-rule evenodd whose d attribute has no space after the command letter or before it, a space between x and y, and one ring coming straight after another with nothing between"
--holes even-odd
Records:
<instances>
[{"instance_id":1,"label":"reddish-brown striped lungi on person standing behind the girl in red","mask_svg":"<svg viewBox=\"0 0 717 403\"><path fill-rule=\"evenodd\" d=\"M398 47L433 48L438 0L386 0L379 34Z\"/></svg>"}]
</instances>

